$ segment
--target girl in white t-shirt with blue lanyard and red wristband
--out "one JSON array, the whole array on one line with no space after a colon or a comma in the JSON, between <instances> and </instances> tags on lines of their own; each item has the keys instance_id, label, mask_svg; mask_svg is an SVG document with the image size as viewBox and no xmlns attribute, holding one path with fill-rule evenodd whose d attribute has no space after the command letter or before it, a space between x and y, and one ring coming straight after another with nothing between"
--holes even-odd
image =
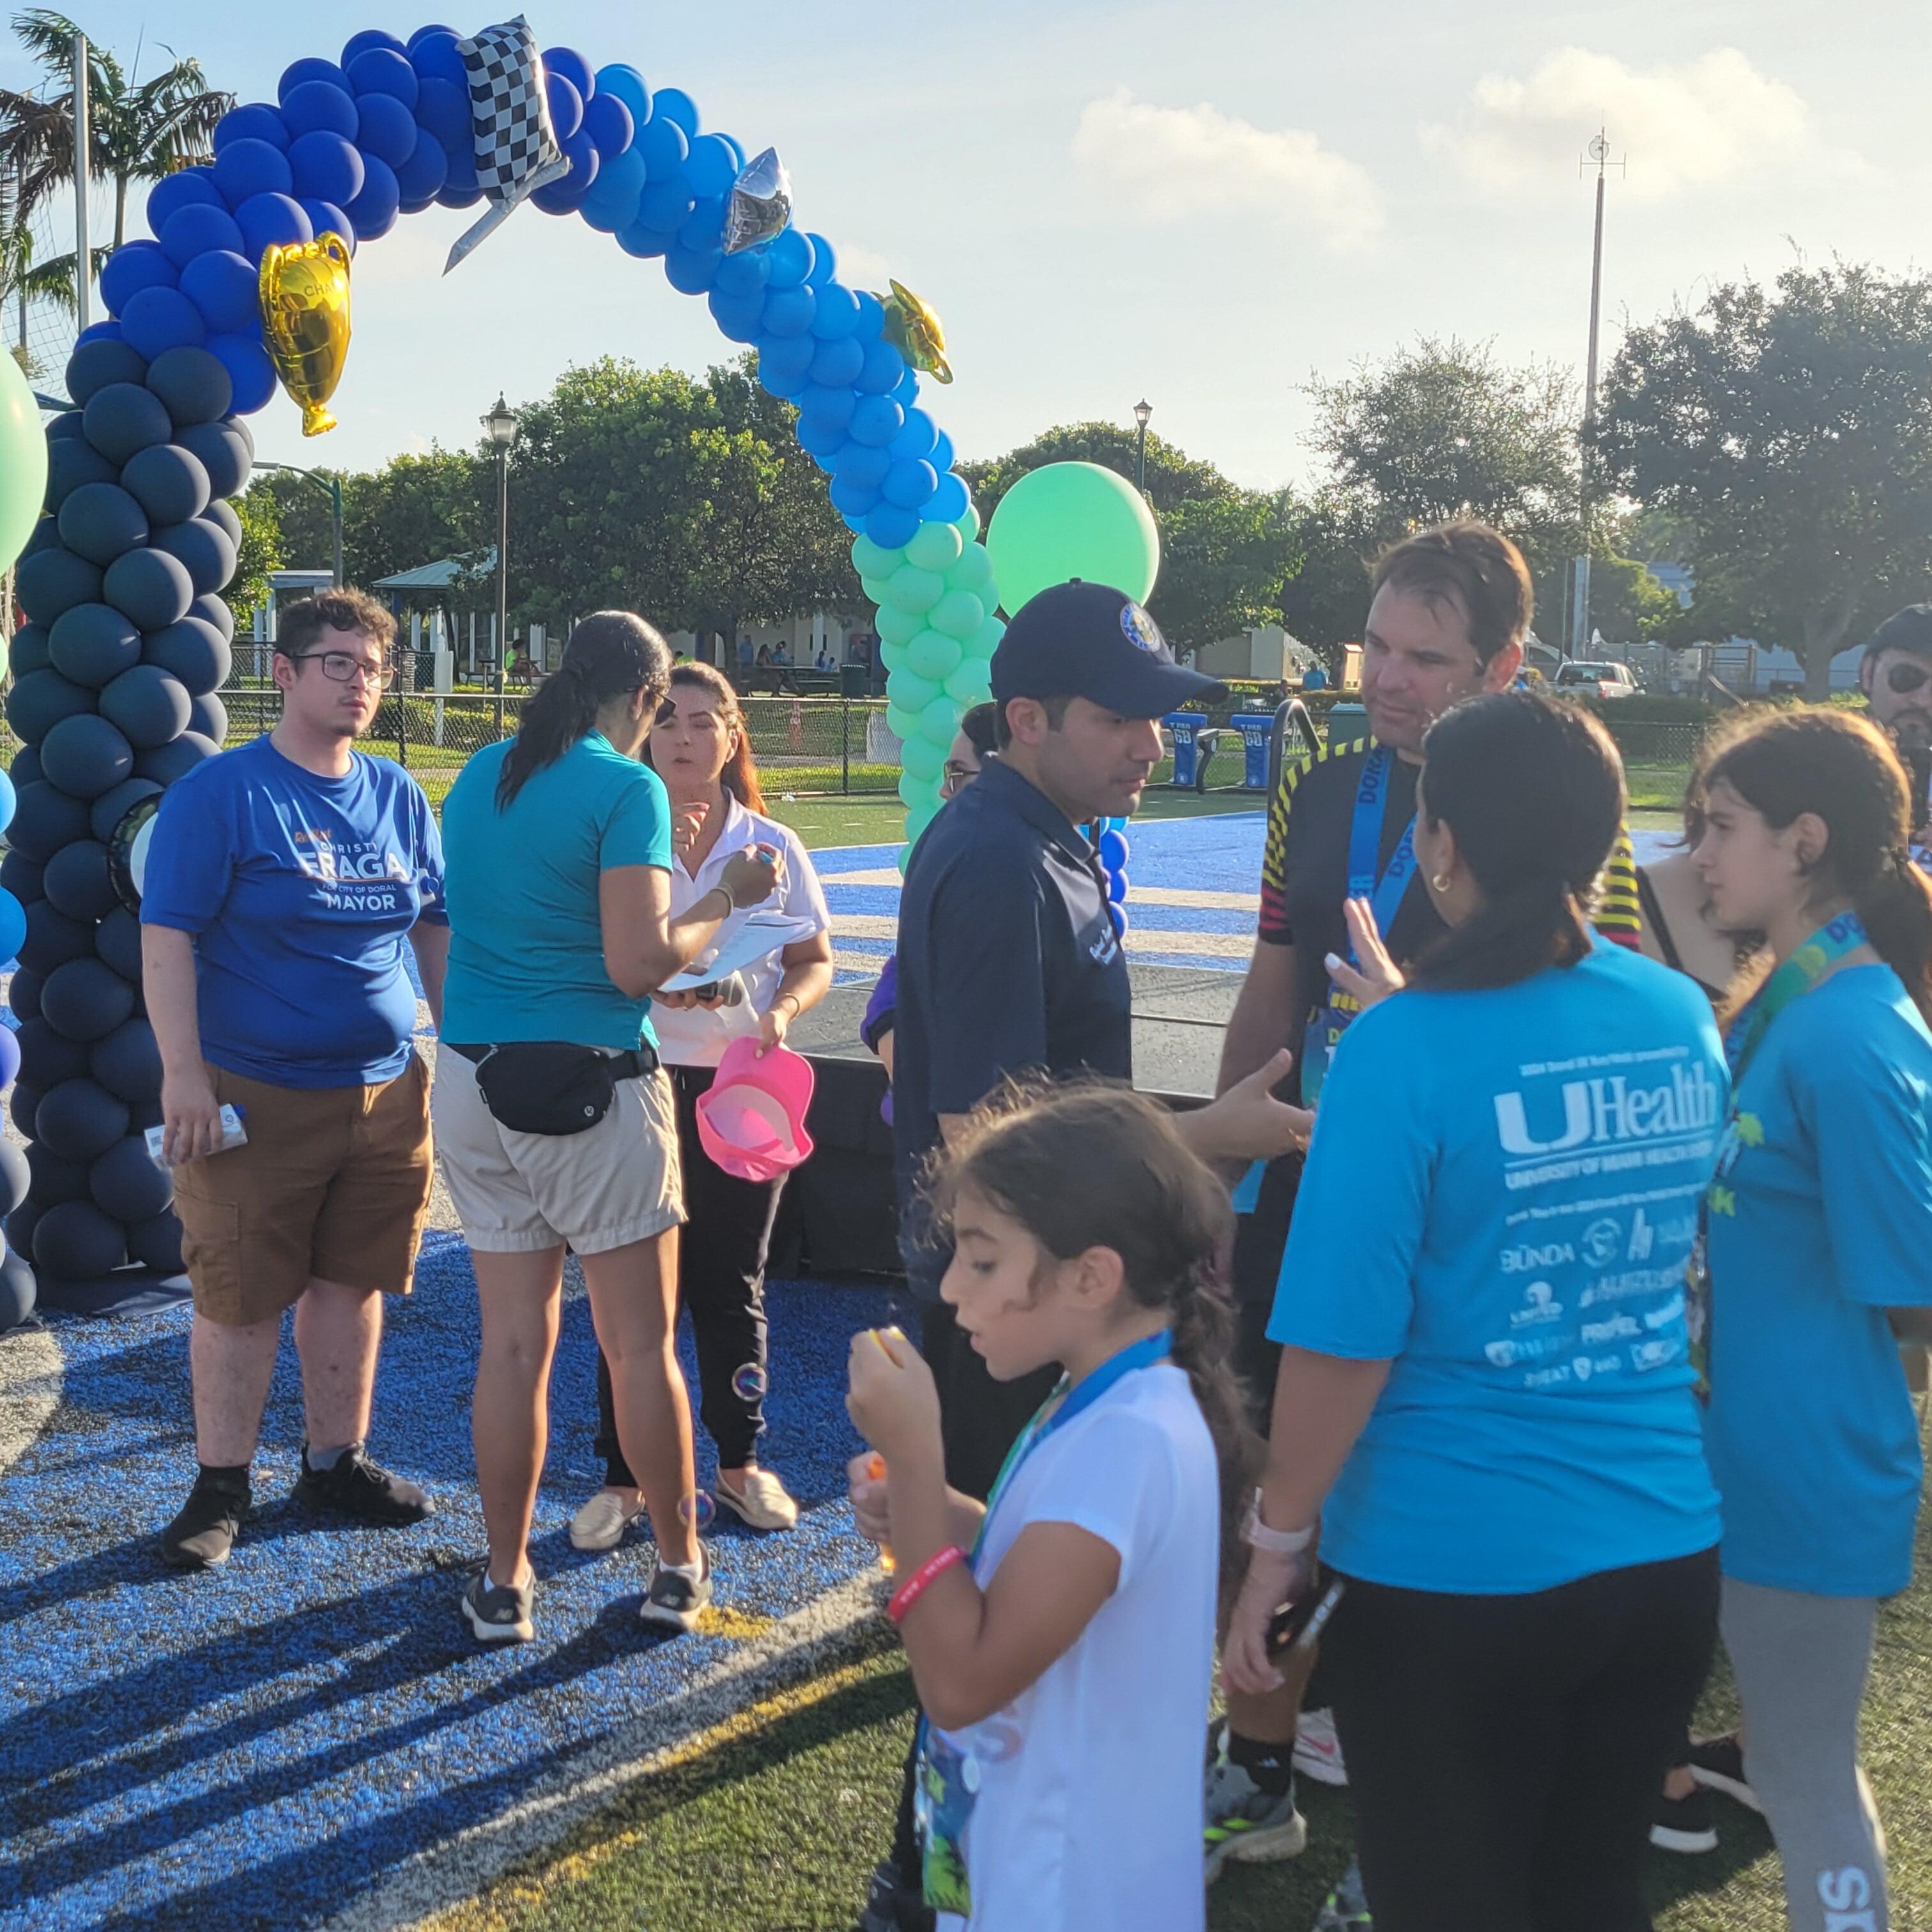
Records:
<instances>
[{"instance_id":1,"label":"girl in white t-shirt with blue lanyard and red wristband","mask_svg":"<svg viewBox=\"0 0 1932 1932\"><path fill-rule=\"evenodd\" d=\"M885 1459L852 1461L852 1513L893 1551L925 1710L925 1901L941 1932L1200 1932L1194 1747L1254 1470L1227 1194L1103 1084L976 1109L933 1188L960 1333L993 1378L1059 1379L981 1503L947 1486L931 1368L852 1337L846 1406Z\"/></svg>"}]
</instances>

